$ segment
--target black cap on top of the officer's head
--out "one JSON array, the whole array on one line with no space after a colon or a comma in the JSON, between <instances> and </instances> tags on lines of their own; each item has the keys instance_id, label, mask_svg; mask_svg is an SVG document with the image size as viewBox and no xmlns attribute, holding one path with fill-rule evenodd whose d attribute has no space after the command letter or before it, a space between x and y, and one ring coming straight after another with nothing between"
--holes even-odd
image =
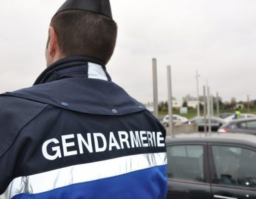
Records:
<instances>
[{"instance_id":1,"label":"black cap on top of the officer's head","mask_svg":"<svg viewBox=\"0 0 256 199\"><path fill-rule=\"evenodd\" d=\"M91 11L112 19L109 0L66 0L55 15L70 10Z\"/></svg>"}]
</instances>

